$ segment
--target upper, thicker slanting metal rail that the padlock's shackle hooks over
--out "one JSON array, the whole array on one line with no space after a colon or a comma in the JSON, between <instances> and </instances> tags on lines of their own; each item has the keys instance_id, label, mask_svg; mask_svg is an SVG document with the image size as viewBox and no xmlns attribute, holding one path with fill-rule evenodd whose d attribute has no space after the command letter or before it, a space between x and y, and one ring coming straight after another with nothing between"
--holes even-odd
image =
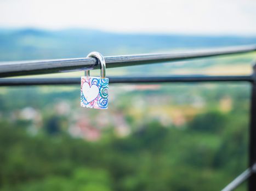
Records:
<instances>
[{"instance_id":1,"label":"upper, thicker slanting metal rail that the padlock's shackle hooks over","mask_svg":"<svg viewBox=\"0 0 256 191\"><path fill-rule=\"evenodd\" d=\"M128 56L107 56L105 57L107 68L126 67L131 65L181 61L192 58L204 58L220 55L231 55L244 52L256 51L256 45L226 47L220 49L205 49L189 52L173 52L148 55L128 55ZM86 52L85 52L86 53ZM0 77L49 74L70 70L90 70L99 69L95 58L72 58L53 59L42 61L17 61L1 62Z\"/></svg>"}]
</instances>

